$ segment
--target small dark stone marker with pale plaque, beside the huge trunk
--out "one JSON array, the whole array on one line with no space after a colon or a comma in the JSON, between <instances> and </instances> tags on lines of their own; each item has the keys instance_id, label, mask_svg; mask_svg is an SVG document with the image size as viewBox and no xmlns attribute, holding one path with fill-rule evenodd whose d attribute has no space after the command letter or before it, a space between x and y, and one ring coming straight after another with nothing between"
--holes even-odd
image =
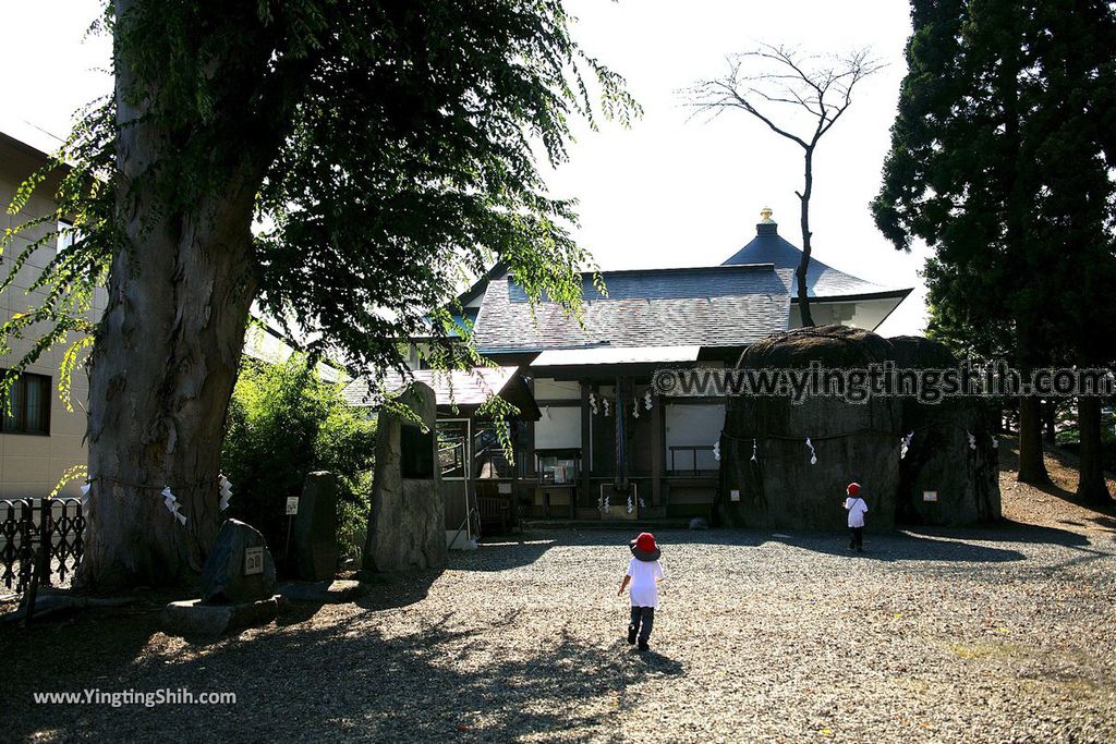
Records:
<instances>
[{"instance_id":1,"label":"small dark stone marker with pale plaque, beside the huge trunk","mask_svg":"<svg viewBox=\"0 0 1116 744\"><path fill-rule=\"evenodd\" d=\"M263 549L263 570L246 576L244 552ZM202 598L205 605L235 605L271 598L276 593L276 564L263 535L250 524L225 520L202 567Z\"/></svg>"}]
</instances>

